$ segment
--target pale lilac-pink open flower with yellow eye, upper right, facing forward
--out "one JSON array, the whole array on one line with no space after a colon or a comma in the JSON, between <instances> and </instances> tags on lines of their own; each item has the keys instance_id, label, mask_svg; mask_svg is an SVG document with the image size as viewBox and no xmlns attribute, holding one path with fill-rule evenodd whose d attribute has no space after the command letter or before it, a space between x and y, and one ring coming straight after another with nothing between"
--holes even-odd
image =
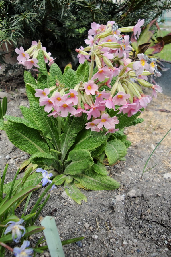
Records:
<instances>
[{"instance_id":1,"label":"pale lilac-pink open flower with yellow eye, upper right, facing forward","mask_svg":"<svg viewBox=\"0 0 171 257\"><path fill-rule=\"evenodd\" d=\"M148 71L150 68L150 65L147 63L148 56L144 54L138 54L137 57L139 58L140 61L137 61L133 64L133 69L136 71L135 74L139 76L143 73L144 69Z\"/></svg>"}]
</instances>

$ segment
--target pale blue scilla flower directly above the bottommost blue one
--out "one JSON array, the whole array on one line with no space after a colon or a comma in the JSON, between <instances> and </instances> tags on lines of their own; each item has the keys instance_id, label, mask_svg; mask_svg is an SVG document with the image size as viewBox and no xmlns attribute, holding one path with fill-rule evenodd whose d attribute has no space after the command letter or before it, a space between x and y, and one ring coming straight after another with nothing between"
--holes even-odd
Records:
<instances>
[{"instance_id":1,"label":"pale blue scilla flower directly above the bottommost blue one","mask_svg":"<svg viewBox=\"0 0 171 257\"><path fill-rule=\"evenodd\" d=\"M19 240L21 239L22 236L24 236L25 232L26 232L26 229L25 227L21 226L21 224L24 222L23 219L20 219L19 221L17 222L14 222L14 221L9 221L7 222L6 225L10 224L4 234L6 235L7 233L11 232L12 231L12 238L13 238L13 241L18 243ZM21 230L23 230L23 234L21 232ZM17 236L17 237L15 237Z\"/></svg>"}]
</instances>

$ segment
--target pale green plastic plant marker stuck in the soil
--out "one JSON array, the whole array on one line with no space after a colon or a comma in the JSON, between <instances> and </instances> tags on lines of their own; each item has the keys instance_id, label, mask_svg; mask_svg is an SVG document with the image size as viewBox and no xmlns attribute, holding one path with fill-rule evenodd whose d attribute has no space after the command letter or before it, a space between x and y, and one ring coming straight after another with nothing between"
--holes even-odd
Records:
<instances>
[{"instance_id":1,"label":"pale green plastic plant marker stuck in the soil","mask_svg":"<svg viewBox=\"0 0 171 257\"><path fill-rule=\"evenodd\" d=\"M65 257L55 219L51 216L46 216L40 223L45 227L43 232L50 255L53 257Z\"/></svg>"}]
</instances>

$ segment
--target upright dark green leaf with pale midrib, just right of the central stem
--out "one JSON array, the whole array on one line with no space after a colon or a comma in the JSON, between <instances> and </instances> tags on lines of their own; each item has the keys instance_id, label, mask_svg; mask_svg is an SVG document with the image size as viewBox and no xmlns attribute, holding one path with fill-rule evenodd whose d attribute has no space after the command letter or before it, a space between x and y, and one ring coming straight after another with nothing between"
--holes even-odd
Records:
<instances>
[{"instance_id":1,"label":"upright dark green leaf with pale midrib, just right of the central stem","mask_svg":"<svg viewBox=\"0 0 171 257\"><path fill-rule=\"evenodd\" d=\"M68 150L74 144L78 132L80 132L84 125L84 115L74 118L68 117L66 119L66 123L64 123L64 133L60 136L62 162Z\"/></svg>"}]
</instances>

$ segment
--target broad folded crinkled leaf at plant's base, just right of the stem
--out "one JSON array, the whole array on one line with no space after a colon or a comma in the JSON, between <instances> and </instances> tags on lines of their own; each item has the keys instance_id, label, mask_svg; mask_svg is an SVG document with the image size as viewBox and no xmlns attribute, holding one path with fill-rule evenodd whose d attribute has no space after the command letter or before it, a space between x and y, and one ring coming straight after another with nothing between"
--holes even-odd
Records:
<instances>
[{"instance_id":1,"label":"broad folded crinkled leaf at plant's base, just right of the stem","mask_svg":"<svg viewBox=\"0 0 171 257\"><path fill-rule=\"evenodd\" d=\"M71 162L70 162L71 161ZM70 162L64 170L64 174L75 175L82 173L93 165L93 158L88 150L72 150L68 154L67 162Z\"/></svg>"}]
</instances>

